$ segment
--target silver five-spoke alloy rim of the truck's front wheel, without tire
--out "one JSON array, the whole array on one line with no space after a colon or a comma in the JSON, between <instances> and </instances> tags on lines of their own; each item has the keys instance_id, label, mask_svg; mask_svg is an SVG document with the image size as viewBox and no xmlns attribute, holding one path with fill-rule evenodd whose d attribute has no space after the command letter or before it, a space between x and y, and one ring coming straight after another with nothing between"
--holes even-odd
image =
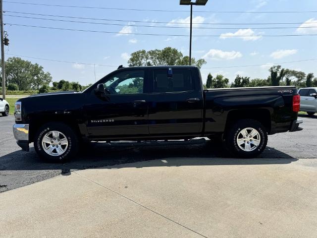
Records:
<instances>
[{"instance_id":1,"label":"silver five-spoke alloy rim of the truck's front wheel, without tire","mask_svg":"<svg viewBox=\"0 0 317 238\"><path fill-rule=\"evenodd\" d=\"M60 156L67 150L68 140L66 136L59 131L49 131L42 138L42 147L48 155Z\"/></svg>"}]
</instances>

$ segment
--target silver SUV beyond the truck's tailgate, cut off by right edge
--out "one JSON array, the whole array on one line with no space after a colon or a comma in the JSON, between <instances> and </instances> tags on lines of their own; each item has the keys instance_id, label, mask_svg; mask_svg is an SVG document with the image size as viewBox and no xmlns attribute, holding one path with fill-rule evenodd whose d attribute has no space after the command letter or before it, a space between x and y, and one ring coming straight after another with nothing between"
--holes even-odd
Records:
<instances>
[{"instance_id":1,"label":"silver SUV beyond the truck's tailgate, cut off by right edge","mask_svg":"<svg viewBox=\"0 0 317 238\"><path fill-rule=\"evenodd\" d=\"M317 113L317 88L300 88L298 93L301 95L300 111L309 116Z\"/></svg>"}]
</instances>

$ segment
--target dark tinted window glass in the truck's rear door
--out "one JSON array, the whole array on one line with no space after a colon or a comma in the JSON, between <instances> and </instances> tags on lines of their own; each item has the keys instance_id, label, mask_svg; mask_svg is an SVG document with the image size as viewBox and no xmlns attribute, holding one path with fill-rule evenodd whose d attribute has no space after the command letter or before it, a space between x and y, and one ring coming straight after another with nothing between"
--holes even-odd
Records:
<instances>
[{"instance_id":1,"label":"dark tinted window glass in the truck's rear door","mask_svg":"<svg viewBox=\"0 0 317 238\"><path fill-rule=\"evenodd\" d=\"M168 75L166 69L153 71L154 93L185 92L194 90L194 82L190 69L172 69Z\"/></svg>"}]
</instances>

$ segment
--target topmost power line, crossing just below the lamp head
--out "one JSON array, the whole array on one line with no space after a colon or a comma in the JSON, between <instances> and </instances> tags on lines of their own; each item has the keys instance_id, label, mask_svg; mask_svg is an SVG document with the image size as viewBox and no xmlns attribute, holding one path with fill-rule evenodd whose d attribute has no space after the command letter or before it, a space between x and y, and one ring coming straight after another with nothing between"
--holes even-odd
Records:
<instances>
[{"instance_id":1,"label":"topmost power line, crossing just below the lamp head","mask_svg":"<svg viewBox=\"0 0 317 238\"><path fill-rule=\"evenodd\" d=\"M76 8L105 9L105 10L188 12L186 10L136 9L136 8L97 7L97 6L55 5L55 4L18 2L18 1L3 1L3 2L16 3L16 4L27 4L27 5L56 6L56 7L76 7ZM195 12L211 12L211 13L313 13L313 12L317 12L317 11L195 11Z\"/></svg>"}]
</instances>

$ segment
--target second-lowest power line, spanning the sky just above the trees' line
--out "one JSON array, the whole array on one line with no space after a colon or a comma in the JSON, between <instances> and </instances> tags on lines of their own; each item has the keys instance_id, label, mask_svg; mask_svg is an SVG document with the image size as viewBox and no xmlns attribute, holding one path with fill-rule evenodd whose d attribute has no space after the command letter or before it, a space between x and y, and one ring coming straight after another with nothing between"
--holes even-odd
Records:
<instances>
[{"instance_id":1,"label":"second-lowest power line, spanning the sky just above the trees' line","mask_svg":"<svg viewBox=\"0 0 317 238\"><path fill-rule=\"evenodd\" d=\"M112 32L112 31L95 31L95 30L82 30L82 29L70 29L70 28L57 28L57 27L48 27L48 26L34 26L34 25L23 25L23 24L13 24L5 23L12 26L25 26L25 27L34 27L34 28L43 28L43 29L53 29L53 30L67 30L67 31L81 31L81 32L95 32L95 33L108 33L108 34L124 34L124 35L143 35L143 36L180 36L188 37L188 35L182 34L151 34L151 33L126 33L126 32ZM317 36L317 34L300 34L300 35L193 35L193 37L290 37L290 36Z\"/></svg>"}]
</instances>

